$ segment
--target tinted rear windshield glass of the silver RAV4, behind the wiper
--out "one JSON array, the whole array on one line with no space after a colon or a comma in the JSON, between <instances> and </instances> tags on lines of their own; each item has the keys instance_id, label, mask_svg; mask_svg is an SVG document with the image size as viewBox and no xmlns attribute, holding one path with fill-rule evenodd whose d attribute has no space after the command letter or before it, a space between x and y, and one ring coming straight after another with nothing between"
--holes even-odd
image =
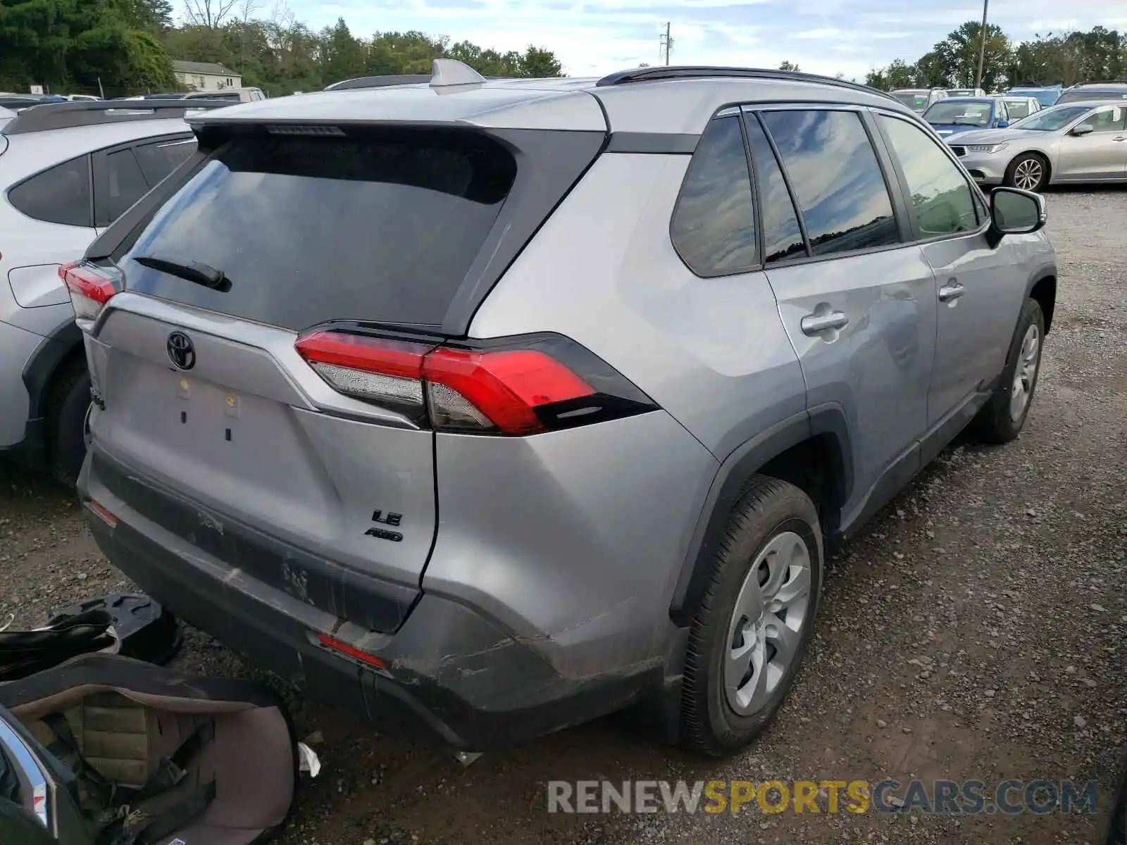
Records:
<instances>
[{"instance_id":1,"label":"tinted rear windshield glass of the silver RAV4, behind the wiper","mask_svg":"<svg viewBox=\"0 0 1127 845\"><path fill-rule=\"evenodd\" d=\"M436 326L516 174L469 133L234 139L157 213L123 261L127 285L303 329L331 319ZM198 261L216 291L132 256Z\"/></svg>"}]
</instances>

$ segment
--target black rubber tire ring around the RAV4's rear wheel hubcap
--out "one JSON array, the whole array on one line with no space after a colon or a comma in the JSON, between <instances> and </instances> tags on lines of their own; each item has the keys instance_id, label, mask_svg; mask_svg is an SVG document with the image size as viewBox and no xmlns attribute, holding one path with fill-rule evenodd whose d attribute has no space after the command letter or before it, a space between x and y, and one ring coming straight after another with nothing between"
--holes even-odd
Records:
<instances>
[{"instance_id":1,"label":"black rubber tire ring around the RAV4's rear wheel hubcap","mask_svg":"<svg viewBox=\"0 0 1127 845\"><path fill-rule=\"evenodd\" d=\"M752 564L775 537L792 532L809 552L809 598L798 648L766 702L749 714L737 713L725 692L724 664L730 649L736 602ZM733 509L701 606L693 620L685 656L681 700L681 738L689 748L724 756L743 748L778 712L809 644L822 587L822 528L810 498L786 481L756 475Z\"/></svg>"}]
</instances>

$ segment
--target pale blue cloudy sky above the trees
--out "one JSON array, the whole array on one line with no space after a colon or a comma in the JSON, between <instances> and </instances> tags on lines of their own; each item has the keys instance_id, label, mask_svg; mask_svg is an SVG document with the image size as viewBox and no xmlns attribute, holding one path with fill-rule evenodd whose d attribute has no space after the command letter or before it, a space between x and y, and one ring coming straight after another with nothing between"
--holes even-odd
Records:
<instances>
[{"instance_id":1,"label":"pale blue cloudy sky above the trees","mask_svg":"<svg viewBox=\"0 0 1127 845\"><path fill-rule=\"evenodd\" d=\"M354 35L421 29L500 51L553 50L568 75L646 62L671 21L681 64L778 66L863 78L896 57L914 61L965 20L977 0L285 0L313 28L344 17ZM1011 38L1035 33L1127 28L1125 0L993 0L991 23Z\"/></svg>"}]
</instances>

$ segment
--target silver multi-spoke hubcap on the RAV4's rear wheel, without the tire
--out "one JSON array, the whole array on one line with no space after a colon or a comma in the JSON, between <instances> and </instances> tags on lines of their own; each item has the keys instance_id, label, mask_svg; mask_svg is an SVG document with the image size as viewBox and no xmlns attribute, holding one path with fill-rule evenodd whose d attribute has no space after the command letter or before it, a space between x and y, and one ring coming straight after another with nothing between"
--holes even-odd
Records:
<instances>
[{"instance_id":1,"label":"silver multi-spoke hubcap on the RAV4's rear wheel, without the tire","mask_svg":"<svg viewBox=\"0 0 1127 845\"><path fill-rule=\"evenodd\" d=\"M728 624L724 690L739 715L761 710L798 658L810 607L810 550L793 532L756 555Z\"/></svg>"}]
</instances>

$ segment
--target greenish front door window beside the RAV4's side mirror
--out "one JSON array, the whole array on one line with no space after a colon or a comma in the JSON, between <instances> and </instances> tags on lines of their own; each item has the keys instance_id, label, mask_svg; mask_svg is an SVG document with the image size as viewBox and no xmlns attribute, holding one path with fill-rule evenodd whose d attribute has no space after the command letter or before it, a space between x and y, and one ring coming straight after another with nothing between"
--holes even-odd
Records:
<instances>
[{"instance_id":1,"label":"greenish front door window beside the RAV4's side mirror","mask_svg":"<svg viewBox=\"0 0 1127 845\"><path fill-rule=\"evenodd\" d=\"M935 141L905 121L880 121L904 170L921 234L929 238L977 229L974 192Z\"/></svg>"}]
</instances>

